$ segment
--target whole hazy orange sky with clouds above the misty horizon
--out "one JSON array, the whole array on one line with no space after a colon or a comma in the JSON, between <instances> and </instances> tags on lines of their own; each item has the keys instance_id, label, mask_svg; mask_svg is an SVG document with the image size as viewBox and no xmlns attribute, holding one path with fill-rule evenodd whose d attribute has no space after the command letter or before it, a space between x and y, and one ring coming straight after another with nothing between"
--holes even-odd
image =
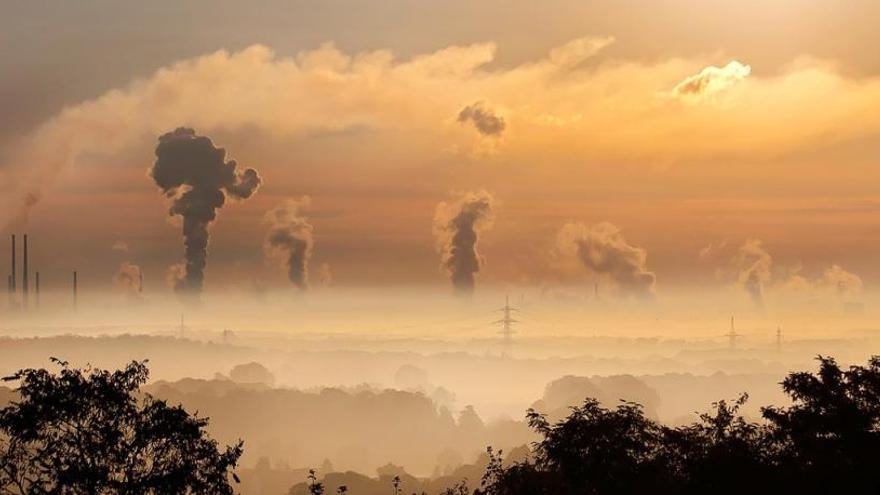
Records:
<instances>
[{"instance_id":1,"label":"whole hazy orange sky with clouds above the misty horizon","mask_svg":"<svg viewBox=\"0 0 880 495\"><path fill-rule=\"evenodd\" d=\"M209 227L208 289L880 282L876 2L4 10L0 230L46 280L125 286L129 263L174 285L181 221L150 170L187 127L261 177ZM307 240L296 261L278 232Z\"/></svg>"}]
</instances>

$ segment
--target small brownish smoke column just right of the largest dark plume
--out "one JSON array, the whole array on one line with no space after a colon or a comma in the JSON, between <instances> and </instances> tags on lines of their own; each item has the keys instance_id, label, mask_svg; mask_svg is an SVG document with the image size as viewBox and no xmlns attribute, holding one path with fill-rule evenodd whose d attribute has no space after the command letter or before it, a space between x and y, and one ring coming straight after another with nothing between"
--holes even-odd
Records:
<instances>
[{"instance_id":1,"label":"small brownish smoke column just right of the largest dark plume","mask_svg":"<svg viewBox=\"0 0 880 495\"><path fill-rule=\"evenodd\" d=\"M266 213L269 232L264 249L282 260L287 277L303 290L309 288L309 260L314 248L314 228L303 215L310 204L308 196L299 201L288 199Z\"/></svg>"}]
</instances>

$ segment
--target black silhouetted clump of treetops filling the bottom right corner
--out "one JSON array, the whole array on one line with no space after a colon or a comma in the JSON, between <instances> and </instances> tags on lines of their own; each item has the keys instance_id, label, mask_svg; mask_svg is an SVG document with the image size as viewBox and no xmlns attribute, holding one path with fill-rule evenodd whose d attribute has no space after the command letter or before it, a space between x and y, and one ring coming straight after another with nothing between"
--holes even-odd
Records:
<instances>
[{"instance_id":1,"label":"black silhouetted clump of treetops filling the bottom right corner","mask_svg":"<svg viewBox=\"0 0 880 495\"><path fill-rule=\"evenodd\" d=\"M747 396L719 401L692 425L669 428L639 405L595 399L551 424L530 410L543 438L533 461L503 466L491 449L478 494L880 493L880 357L841 370L819 357L817 374L782 383L789 407L739 415Z\"/></svg>"}]
</instances>

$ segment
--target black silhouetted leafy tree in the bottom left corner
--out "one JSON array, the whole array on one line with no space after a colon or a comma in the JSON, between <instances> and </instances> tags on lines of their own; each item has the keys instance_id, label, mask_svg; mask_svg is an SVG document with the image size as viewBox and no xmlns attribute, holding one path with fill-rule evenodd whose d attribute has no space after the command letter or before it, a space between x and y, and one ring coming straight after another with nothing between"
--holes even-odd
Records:
<instances>
[{"instance_id":1,"label":"black silhouetted leafy tree in the bottom left corner","mask_svg":"<svg viewBox=\"0 0 880 495\"><path fill-rule=\"evenodd\" d=\"M140 396L146 362L106 371L23 369L0 409L0 493L231 494L242 442L220 449L190 415Z\"/></svg>"}]
</instances>

